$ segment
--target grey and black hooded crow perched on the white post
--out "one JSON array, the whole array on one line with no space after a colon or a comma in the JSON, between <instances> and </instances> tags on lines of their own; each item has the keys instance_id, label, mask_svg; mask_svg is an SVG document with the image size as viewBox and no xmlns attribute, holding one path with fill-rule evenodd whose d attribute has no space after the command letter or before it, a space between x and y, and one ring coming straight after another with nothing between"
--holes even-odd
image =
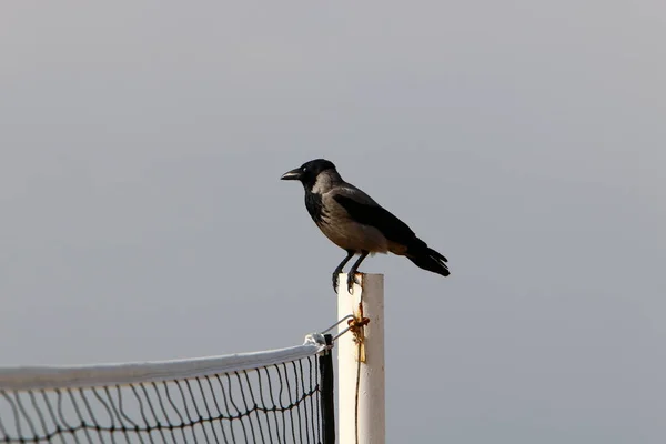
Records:
<instances>
[{"instance_id":1,"label":"grey and black hooded crow perched on the white post","mask_svg":"<svg viewBox=\"0 0 666 444\"><path fill-rule=\"evenodd\" d=\"M300 181L305 190L305 208L310 216L346 256L333 271L333 290L337 276L354 255L359 259L347 273L347 291L352 293L359 266L369 254L393 253L416 266L447 276L448 260L427 246L416 234L359 188L345 182L333 162L314 159L282 174L281 180Z\"/></svg>"}]
</instances>

